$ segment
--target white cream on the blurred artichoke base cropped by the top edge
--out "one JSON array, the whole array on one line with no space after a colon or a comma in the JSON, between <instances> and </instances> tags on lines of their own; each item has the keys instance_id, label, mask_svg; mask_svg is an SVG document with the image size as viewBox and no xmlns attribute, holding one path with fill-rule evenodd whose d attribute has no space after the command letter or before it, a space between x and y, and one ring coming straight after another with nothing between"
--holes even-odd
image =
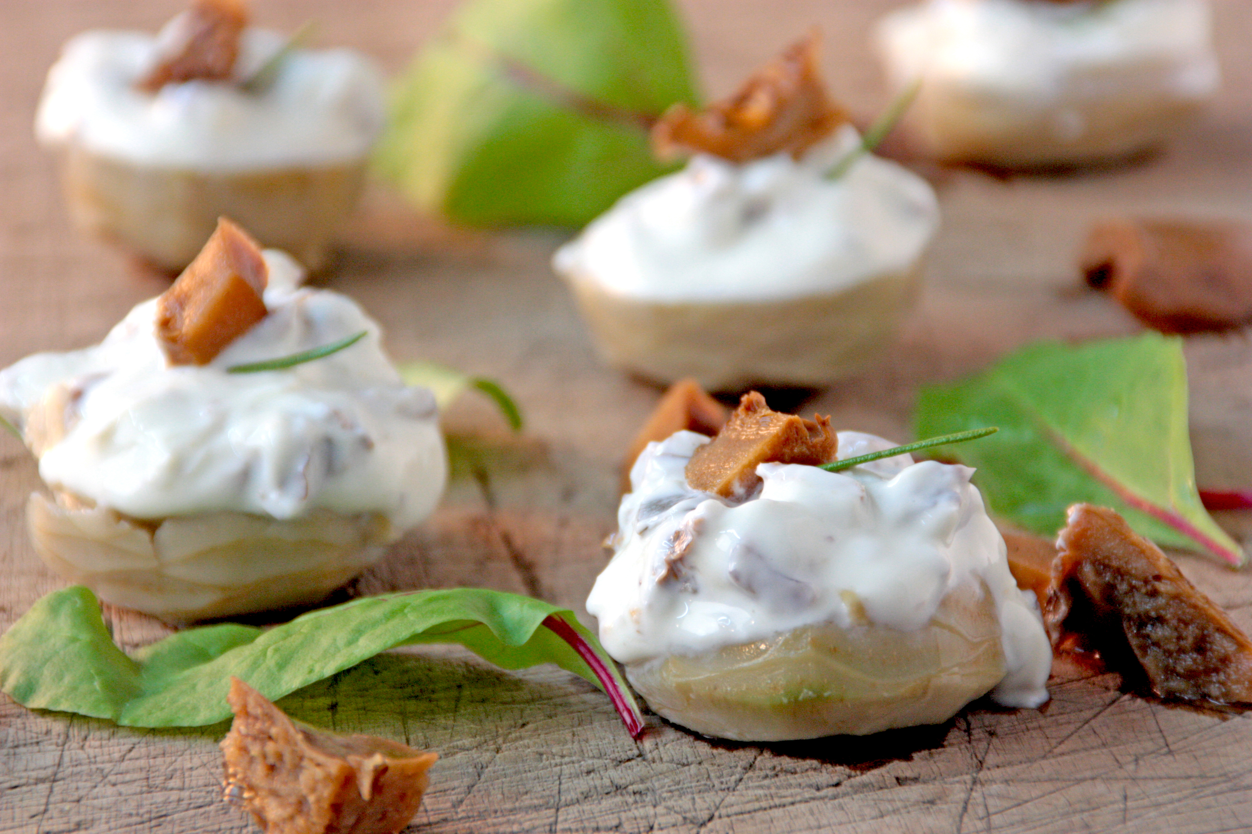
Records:
<instances>
[{"instance_id":1,"label":"white cream on the blurred artichoke base cropped by the top edge","mask_svg":"<svg viewBox=\"0 0 1252 834\"><path fill-rule=\"evenodd\" d=\"M925 0L884 18L878 35L898 85L921 79L1039 100L1128 89L1207 99L1219 81L1211 16L1206 0ZM1134 76L1119 73L1128 68Z\"/></svg>"}]
</instances>

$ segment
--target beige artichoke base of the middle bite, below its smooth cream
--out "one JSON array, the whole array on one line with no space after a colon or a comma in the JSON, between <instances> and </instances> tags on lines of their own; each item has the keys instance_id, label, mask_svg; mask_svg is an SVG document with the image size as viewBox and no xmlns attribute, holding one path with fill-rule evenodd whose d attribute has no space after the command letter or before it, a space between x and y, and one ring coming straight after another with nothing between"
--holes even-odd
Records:
<instances>
[{"instance_id":1,"label":"beige artichoke base of the middle bite, below its smooth cream","mask_svg":"<svg viewBox=\"0 0 1252 834\"><path fill-rule=\"evenodd\" d=\"M761 301L665 303L565 275L601 358L660 383L695 378L711 391L757 384L825 385L895 341L921 283L920 264L834 293Z\"/></svg>"}]
</instances>

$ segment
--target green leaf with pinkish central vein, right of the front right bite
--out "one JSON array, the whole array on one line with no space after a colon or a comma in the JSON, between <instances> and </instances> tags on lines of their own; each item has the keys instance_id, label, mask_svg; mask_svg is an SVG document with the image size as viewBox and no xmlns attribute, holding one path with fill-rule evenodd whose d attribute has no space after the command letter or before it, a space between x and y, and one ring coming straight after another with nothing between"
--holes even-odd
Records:
<instances>
[{"instance_id":1,"label":"green leaf with pinkish central vein, right of the front right bite","mask_svg":"<svg viewBox=\"0 0 1252 834\"><path fill-rule=\"evenodd\" d=\"M918 398L919 435L990 423L1000 428L994 438L954 455L978 468L998 515L1054 535L1070 504L1101 504L1158 544L1243 564L1196 491L1178 339L1147 333L1077 348L1037 344Z\"/></svg>"}]
</instances>

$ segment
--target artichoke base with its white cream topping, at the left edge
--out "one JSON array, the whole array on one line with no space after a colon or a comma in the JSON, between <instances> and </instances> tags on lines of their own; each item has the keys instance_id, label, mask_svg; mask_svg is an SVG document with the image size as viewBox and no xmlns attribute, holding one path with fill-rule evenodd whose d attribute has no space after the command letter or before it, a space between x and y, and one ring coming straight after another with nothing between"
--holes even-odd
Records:
<instances>
[{"instance_id":1,"label":"artichoke base with its white cream topping, at the left edge","mask_svg":"<svg viewBox=\"0 0 1252 834\"><path fill-rule=\"evenodd\" d=\"M354 301L298 288L280 251L264 266L268 313L207 364L172 364L150 299L99 345L0 371L0 415L56 499L30 498L36 549L101 599L175 621L317 600L442 493L431 391ZM316 361L228 371L362 330Z\"/></svg>"}]
</instances>

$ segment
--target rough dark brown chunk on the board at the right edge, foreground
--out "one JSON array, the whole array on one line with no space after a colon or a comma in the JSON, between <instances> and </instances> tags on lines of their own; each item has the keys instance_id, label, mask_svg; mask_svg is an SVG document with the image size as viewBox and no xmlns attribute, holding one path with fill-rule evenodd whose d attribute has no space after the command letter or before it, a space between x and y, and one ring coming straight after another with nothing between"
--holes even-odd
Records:
<instances>
[{"instance_id":1,"label":"rough dark brown chunk on the board at the right edge, foreground","mask_svg":"<svg viewBox=\"0 0 1252 834\"><path fill-rule=\"evenodd\" d=\"M1252 641L1111 509L1077 504L1057 539L1044 623L1162 698L1252 701Z\"/></svg>"}]
</instances>

